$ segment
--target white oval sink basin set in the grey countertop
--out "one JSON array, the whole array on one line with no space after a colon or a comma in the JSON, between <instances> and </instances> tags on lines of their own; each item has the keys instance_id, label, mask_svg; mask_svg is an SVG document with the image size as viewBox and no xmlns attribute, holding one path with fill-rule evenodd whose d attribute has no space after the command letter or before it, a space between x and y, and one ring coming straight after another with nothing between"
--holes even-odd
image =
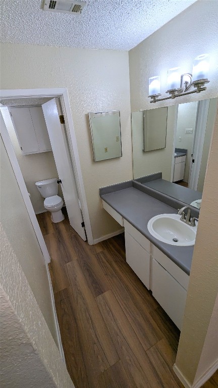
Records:
<instances>
[{"instance_id":1,"label":"white oval sink basin set in the grey countertop","mask_svg":"<svg viewBox=\"0 0 218 388\"><path fill-rule=\"evenodd\" d=\"M148 221L150 234L163 243L178 247L190 247L195 244L196 226L180 221L178 214L159 214Z\"/></svg>"}]
</instances>

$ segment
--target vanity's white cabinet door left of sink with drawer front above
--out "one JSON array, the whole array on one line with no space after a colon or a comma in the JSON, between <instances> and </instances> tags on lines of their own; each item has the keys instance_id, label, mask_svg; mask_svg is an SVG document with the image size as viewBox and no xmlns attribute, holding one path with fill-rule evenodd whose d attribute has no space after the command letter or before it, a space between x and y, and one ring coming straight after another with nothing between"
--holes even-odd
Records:
<instances>
[{"instance_id":1,"label":"vanity's white cabinet door left of sink with drawer front above","mask_svg":"<svg viewBox=\"0 0 218 388\"><path fill-rule=\"evenodd\" d=\"M124 220L126 261L142 283L150 289L150 241Z\"/></svg>"}]
</instances>

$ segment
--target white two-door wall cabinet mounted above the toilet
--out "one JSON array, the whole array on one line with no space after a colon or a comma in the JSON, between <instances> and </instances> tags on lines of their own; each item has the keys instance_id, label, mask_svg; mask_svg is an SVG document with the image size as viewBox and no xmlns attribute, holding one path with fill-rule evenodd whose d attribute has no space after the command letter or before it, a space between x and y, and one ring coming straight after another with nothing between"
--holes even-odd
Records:
<instances>
[{"instance_id":1,"label":"white two-door wall cabinet mounted above the toilet","mask_svg":"<svg viewBox=\"0 0 218 388\"><path fill-rule=\"evenodd\" d=\"M41 107L10 108L12 121L24 155L51 151Z\"/></svg>"}]
</instances>

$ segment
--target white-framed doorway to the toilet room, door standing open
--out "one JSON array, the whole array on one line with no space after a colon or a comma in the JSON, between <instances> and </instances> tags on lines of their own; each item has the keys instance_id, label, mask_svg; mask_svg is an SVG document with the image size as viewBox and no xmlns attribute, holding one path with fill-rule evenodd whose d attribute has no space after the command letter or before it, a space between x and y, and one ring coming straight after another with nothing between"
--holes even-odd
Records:
<instances>
[{"instance_id":1,"label":"white-framed doorway to the toilet room, door standing open","mask_svg":"<svg viewBox=\"0 0 218 388\"><path fill-rule=\"evenodd\" d=\"M50 258L36 214L48 211L57 222L53 210L60 207L71 227L92 245L67 89L2 90L0 102L6 125L6 130L2 128L3 141L14 171L20 170L15 175L45 261ZM9 152L10 143L13 150ZM44 195L42 184L51 179L49 186L56 186L58 192Z\"/></svg>"}]
</instances>

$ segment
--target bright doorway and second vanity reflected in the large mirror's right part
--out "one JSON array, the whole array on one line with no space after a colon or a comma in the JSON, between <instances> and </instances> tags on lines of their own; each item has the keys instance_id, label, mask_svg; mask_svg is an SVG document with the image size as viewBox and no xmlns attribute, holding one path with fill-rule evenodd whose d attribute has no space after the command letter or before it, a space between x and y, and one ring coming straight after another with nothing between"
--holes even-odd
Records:
<instances>
[{"instance_id":1,"label":"bright doorway and second vanity reflected in the large mirror's right part","mask_svg":"<svg viewBox=\"0 0 218 388\"><path fill-rule=\"evenodd\" d=\"M171 181L199 194L203 191L216 108L216 98L178 106Z\"/></svg>"}]
</instances>

